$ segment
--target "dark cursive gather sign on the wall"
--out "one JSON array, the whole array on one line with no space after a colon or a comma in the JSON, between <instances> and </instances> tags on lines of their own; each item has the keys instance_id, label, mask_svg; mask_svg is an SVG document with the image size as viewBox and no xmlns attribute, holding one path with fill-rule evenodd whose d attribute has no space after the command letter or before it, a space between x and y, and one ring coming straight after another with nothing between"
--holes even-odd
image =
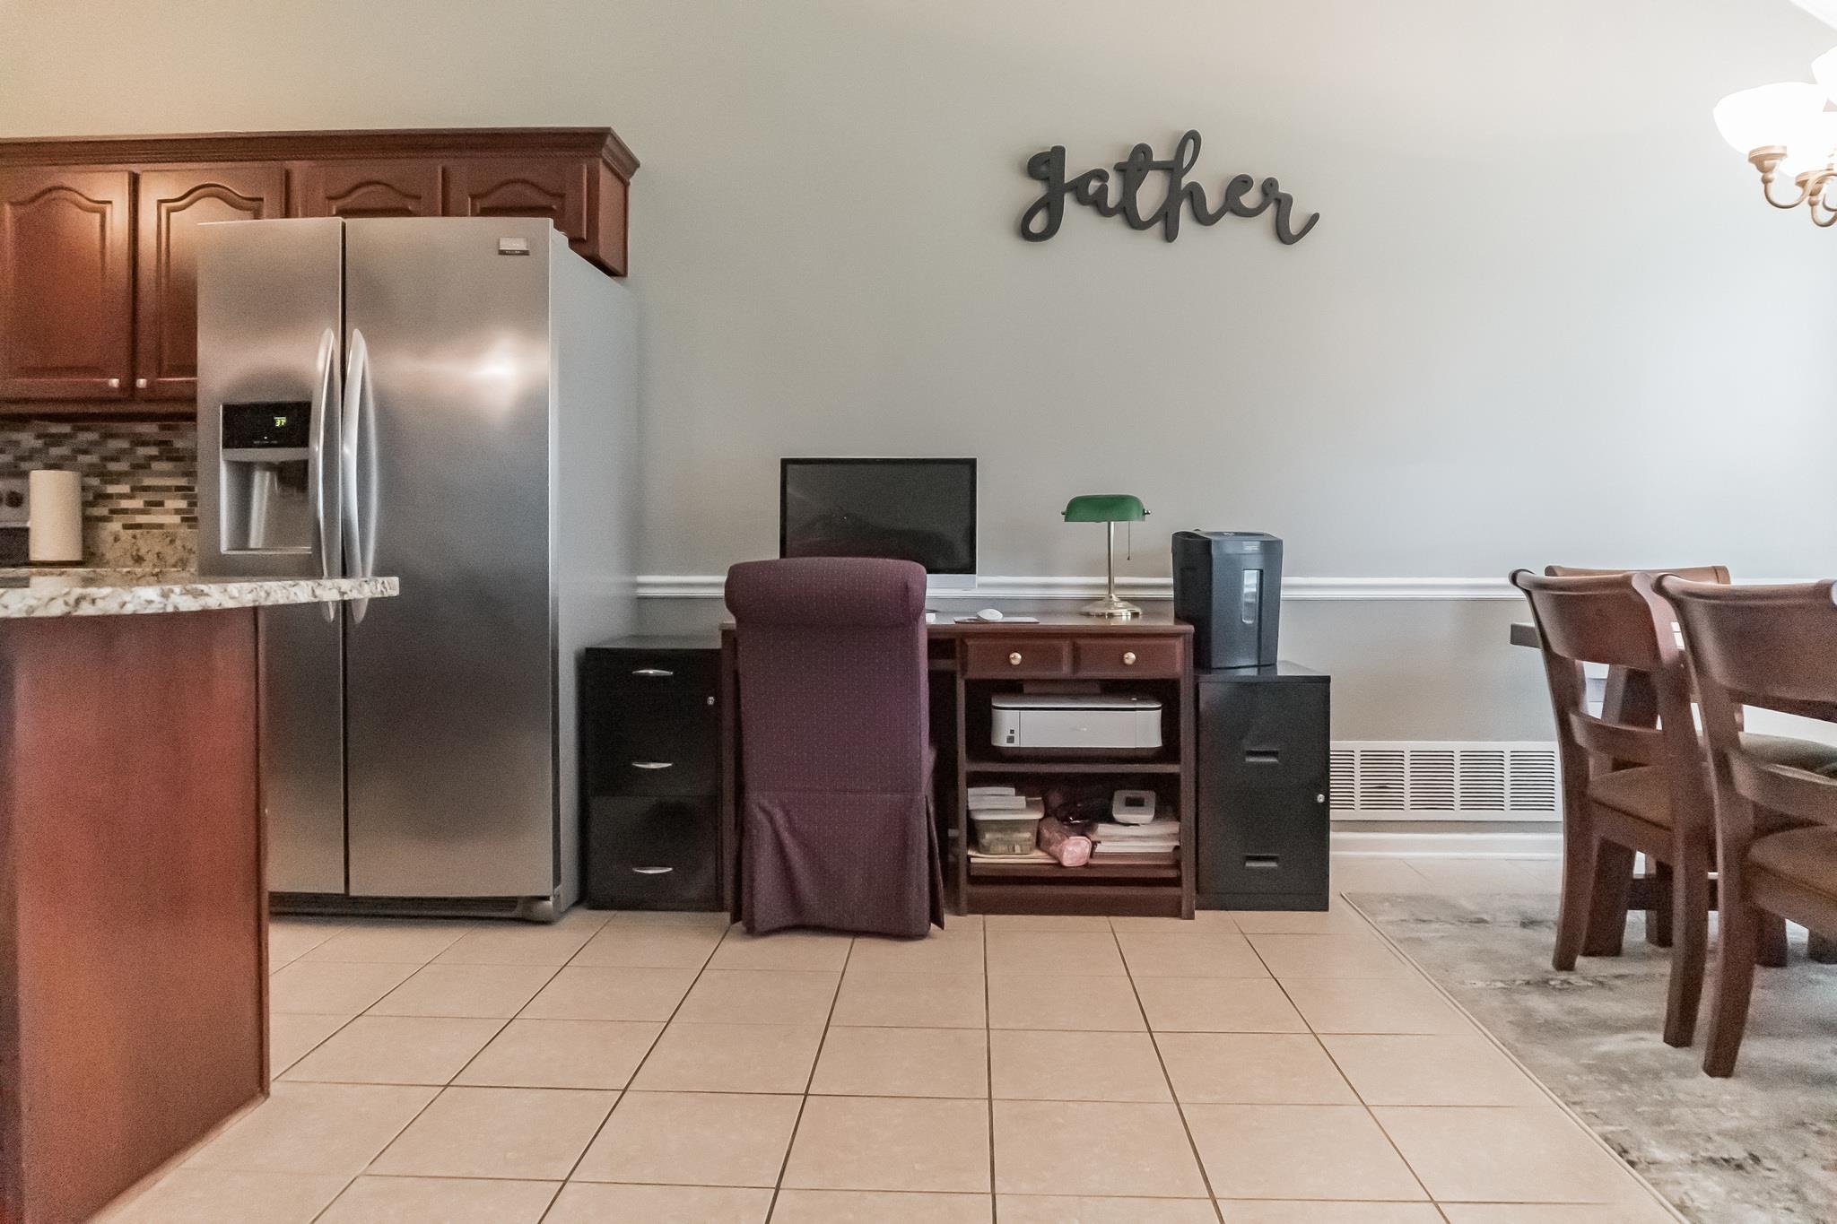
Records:
<instances>
[{"instance_id":1,"label":"dark cursive gather sign on the wall","mask_svg":"<svg viewBox=\"0 0 1837 1224\"><path fill-rule=\"evenodd\" d=\"M1040 198L1021 213L1021 237L1029 242L1045 242L1065 220L1065 198L1093 209L1099 217L1121 217L1130 229L1154 229L1161 226L1161 237L1172 242L1179 237L1179 218L1189 207L1192 220L1201 226L1216 226L1225 217L1258 217L1271 213L1275 237L1284 246L1293 246L1308 237L1319 213L1308 213L1297 228L1293 224L1295 200L1273 178L1257 182L1251 174L1236 174L1225 182L1223 198L1212 209L1205 198L1205 187L1187 182L1187 174L1200 160L1200 134L1189 130L1179 138L1174 154L1155 158L1148 145L1135 145L1130 156L1115 163L1115 180L1110 171L1099 167L1076 178L1065 178L1065 147L1053 145L1027 158L1027 178L1045 184ZM1154 209L1143 211L1141 189L1154 174L1166 176L1166 195ZM1111 187L1115 195L1111 195ZM1257 191L1257 200L1249 195Z\"/></svg>"}]
</instances>

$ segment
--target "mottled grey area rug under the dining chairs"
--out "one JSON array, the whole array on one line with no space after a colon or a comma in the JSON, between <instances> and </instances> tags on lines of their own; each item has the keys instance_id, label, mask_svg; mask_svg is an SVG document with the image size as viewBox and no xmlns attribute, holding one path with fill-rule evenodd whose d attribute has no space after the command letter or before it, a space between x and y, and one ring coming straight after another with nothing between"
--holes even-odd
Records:
<instances>
[{"instance_id":1,"label":"mottled grey area rug under the dining chairs","mask_svg":"<svg viewBox=\"0 0 1837 1224\"><path fill-rule=\"evenodd\" d=\"M1707 1011L1697 1048L1659 1040L1668 954L1640 918L1624 956L1556 973L1550 896L1348 899L1685 1217L1837 1220L1837 965L1808 962L1802 930L1758 973L1734 1077L1710 1079Z\"/></svg>"}]
</instances>

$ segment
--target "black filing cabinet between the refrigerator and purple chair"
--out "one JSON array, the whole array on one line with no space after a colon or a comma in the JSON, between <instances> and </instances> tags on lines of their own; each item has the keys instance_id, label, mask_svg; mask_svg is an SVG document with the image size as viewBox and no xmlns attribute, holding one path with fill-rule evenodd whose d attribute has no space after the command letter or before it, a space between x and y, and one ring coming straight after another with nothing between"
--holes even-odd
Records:
<instances>
[{"instance_id":1,"label":"black filing cabinet between the refrigerator and purple chair","mask_svg":"<svg viewBox=\"0 0 1837 1224\"><path fill-rule=\"evenodd\" d=\"M720 908L720 646L625 637L580 662L584 894L603 910Z\"/></svg>"}]
</instances>

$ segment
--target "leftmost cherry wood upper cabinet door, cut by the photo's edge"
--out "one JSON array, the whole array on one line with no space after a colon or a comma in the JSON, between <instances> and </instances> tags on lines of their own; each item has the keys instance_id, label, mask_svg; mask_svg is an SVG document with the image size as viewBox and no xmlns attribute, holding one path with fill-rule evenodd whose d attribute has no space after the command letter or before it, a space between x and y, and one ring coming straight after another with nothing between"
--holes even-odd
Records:
<instances>
[{"instance_id":1,"label":"leftmost cherry wood upper cabinet door, cut by the photo's edge","mask_svg":"<svg viewBox=\"0 0 1837 1224\"><path fill-rule=\"evenodd\" d=\"M0 398L125 400L127 171L0 167Z\"/></svg>"}]
</instances>

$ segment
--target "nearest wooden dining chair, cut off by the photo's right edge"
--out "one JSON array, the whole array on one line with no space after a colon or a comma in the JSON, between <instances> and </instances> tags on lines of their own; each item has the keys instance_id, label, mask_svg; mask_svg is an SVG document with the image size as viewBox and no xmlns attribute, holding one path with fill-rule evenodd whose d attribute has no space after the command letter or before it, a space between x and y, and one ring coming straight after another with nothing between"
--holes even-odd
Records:
<instances>
[{"instance_id":1,"label":"nearest wooden dining chair, cut off by the photo's right edge","mask_svg":"<svg viewBox=\"0 0 1837 1224\"><path fill-rule=\"evenodd\" d=\"M1734 1074L1764 925L1837 938L1837 763L1782 760L1741 734L1741 707L1837 721L1833 584L1725 587L1642 580L1668 600L1696 677L1714 785L1721 919L1703 1070Z\"/></svg>"}]
</instances>

